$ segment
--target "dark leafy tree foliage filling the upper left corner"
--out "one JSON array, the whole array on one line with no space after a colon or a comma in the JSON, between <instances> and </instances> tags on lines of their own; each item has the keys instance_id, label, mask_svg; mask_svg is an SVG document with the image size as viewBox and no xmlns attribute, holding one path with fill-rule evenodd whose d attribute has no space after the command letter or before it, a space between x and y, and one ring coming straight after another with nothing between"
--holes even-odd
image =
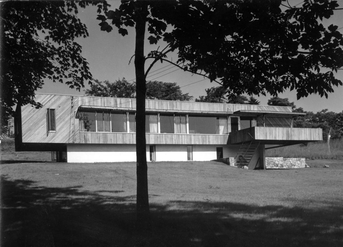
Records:
<instances>
[{"instance_id":1,"label":"dark leafy tree foliage filling the upper left corner","mask_svg":"<svg viewBox=\"0 0 343 247\"><path fill-rule=\"evenodd\" d=\"M44 79L68 84L80 91L91 81L82 47L74 42L87 37L87 28L76 16L78 8L98 5L99 1L3 1L1 2L1 119L8 118L15 104L42 105L35 91ZM2 123L3 124L3 123Z\"/></svg>"}]
</instances>

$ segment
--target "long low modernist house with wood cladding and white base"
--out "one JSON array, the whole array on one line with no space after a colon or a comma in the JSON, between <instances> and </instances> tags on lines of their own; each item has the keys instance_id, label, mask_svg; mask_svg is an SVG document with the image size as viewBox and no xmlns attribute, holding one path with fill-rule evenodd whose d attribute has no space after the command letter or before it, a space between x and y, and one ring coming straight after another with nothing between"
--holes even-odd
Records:
<instances>
[{"instance_id":1,"label":"long low modernist house with wood cladding and white base","mask_svg":"<svg viewBox=\"0 0 343 247\"><path fill-rule=\"evenodd\" d=\"M43 107L17 106L16 151L57 151L59 161L135 161L131 98L36 94ZM264 168L264 150L322 140L293 128L291 107L146 100L147 161L209 161Z\"/></svg>"}]
</instances>

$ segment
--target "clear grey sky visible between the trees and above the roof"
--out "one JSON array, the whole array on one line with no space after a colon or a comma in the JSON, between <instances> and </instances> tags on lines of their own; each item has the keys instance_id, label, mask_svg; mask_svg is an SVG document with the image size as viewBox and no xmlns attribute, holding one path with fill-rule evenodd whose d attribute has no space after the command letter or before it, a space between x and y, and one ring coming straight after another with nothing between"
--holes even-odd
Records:
<instances>
[{"instance_id":1,"label":"clear grey sky visible between the trees and above the roof","mask_svg":"<svg viewBox=\"0 0 343 247\"><path fill-rule=\"evenodd\" d=\"M119 1L108 1L111 4L109 10L115 10L119 7ZM289 0L289 3L294 6L301 3L302 0ZM338 1L340 8L343 7L343 0ZM100 30L99 21L96 20L96 7L87 7L80 9L78 17L86 24L88 28L89 37L78 38L78 42L82 46L82 55L87 59L90 71L94 79L99 81L108 80L114 82L117 79L125 78L129 82L135 79L135 70L133 60L129 64L129 60L134 54L135 35L134 29L128 28L129 35L123 37L118 34L117 29L113 26L113 31L110 33ZM324 26L330 24L337 25L338 28L343 27L343 10L335 10L334 15L329 20L323 20ZM343 33L343 28L339 30ZM146 34L145 39L148 37ZM164 48L163 43L158 43L161 48ZM149 45L149 41L145 42L145 54L151 50L155 50L156 46ZM172 61L177 60L176 54L168 56ZM149 67L151 61L147 60L145 69ZM155 72L154 72L155 71ZM343 70L339 70L336 78L343 81ZM205 89L218 86L216 82L210 82L201 75L192 75L190 72L185 72L176 67L169 65L167 62L157 62L151 69L151 73L146 80L158 80L164 82L176 82L183 93L189 93L194 98L200 95L206 95ZM190 85L189 85L190 84ZM84 89L89 89L90 86L85 84ZM84 89L80 92L75 89L70 89L69 86L62 83L54 83L48 79L45 81L42 89L38 93L55 93L55 94L69 94L69 95L85 95ZM306 98L297 100L296 91L285 91L278 95L281 98L288 98L289 102L294 102L297 107L303 107L306 111L317 112L321 109L328 109L329 111L341 112L343 110L343 86L334 87L334 93L329 94L328 99L320 97L319 95L309 95ZM271 95L256 96L261 105L267 105L268 99Z\"/></svg>"}]
</instances>

